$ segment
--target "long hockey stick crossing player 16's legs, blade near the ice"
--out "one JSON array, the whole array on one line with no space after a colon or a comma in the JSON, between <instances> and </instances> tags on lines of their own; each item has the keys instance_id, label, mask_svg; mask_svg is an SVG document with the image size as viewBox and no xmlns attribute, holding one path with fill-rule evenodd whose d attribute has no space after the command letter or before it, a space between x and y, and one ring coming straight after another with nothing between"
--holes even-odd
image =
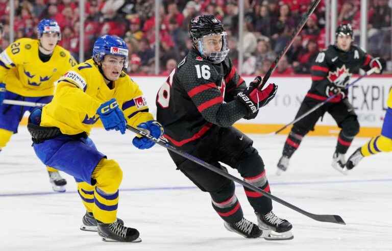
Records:
<instances>
[{"instance_id":1,"label":"long hockey stick crossing player 16's legs, blade near the ice","mask_svg":"<svg viewBox=\"0 0 392 251\"><path fill-rule=\"evenodd\" d=\"M280 199L280 198L272 195L271 193L265 192L262 189L249 184L248 182L242 181L242 180L234 177L233 175L231 175L231 174L229 174L229 173L227 173L227 172L225 172L223 170L220 170L220 169L216 168L215 166L213 166L211 164L208 164L207 162L205 162L205 161L203 161L201 159L198 159L197 157L194 157L194 156L192 156L190 154L187 154L187 153L183 152L182 150L177 149L174 146L169 145L162 138L158 138L158 139L154 138L153 136L150 135L150 132L147 131L147 130L140 130L140 129L137 129L137 128L133 128L130 125L127 125L127 129L132 131L132 132L134 132L134 133L136 133L136 134L139 134L141 136L145 136L145 137L149 138L150 140L154 141L155 143L159 144L160 146L163 146L163 147L167 148L171 152L174 152L174 153L176 153L178 155L181 155L182 157L184 157L184 158L186 158L188 160L191 160L194 163L197 163L197 164L199 164L201 166L204 166L205 168L210 169L211 171L216 172L216 173L222 175L223 177L226 177L229 180L235 181L235 182L241 184L242 186L247 187L247 188L249 188L249 189L251 189L251 190L253 190L255 192L262 193L264 196L266 196L266 197L268 197L270 199L273 199L276 202L278 202L278 203L280 203L280 204L282 204L282 205L284 205L284 206L286 206L288 208L291 208L292 210L297 211L297 212L299 212L299 213L301 213L303 215L306 215L306 216L308 216L308 217L310 217L310 218L312 218L314 220L323 221L323 222L338 223L338 224L344 224L344 225L346 224L345 221L339 215L312 214L312 213L306 212L306 211L304 211L304 210L302 210L302 209L300 209L300 208L298 208L298 207L296 207L296 206L294 206L294 205L292 205L292 204L290 204L288 202L285 202L283 199Z\"/></svg>"}]
</instances>

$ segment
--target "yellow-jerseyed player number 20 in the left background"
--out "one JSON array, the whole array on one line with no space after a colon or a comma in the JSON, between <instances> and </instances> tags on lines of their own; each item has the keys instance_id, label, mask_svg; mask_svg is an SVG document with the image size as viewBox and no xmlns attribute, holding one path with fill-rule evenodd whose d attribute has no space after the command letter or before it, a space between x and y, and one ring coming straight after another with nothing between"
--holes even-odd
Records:
<instances>
[{"instance_id":1,"label":"yellow-jerseyed player number 20 in the left background","mask_svg":"<svg viewBox=\"0 0 392 251\"><path fill-rule=\"evenodd\" d=\"M0 54L0 151L14 133L24 112L34 107L3 104L3 99L49 103L54 83L75 59L57 45L61 39L60 27L51 19L42 19L37 27L38 39L21 38ZM46 167L55 191L64 192L66 180L59 172Z\"/></svg>"}]
</instances>

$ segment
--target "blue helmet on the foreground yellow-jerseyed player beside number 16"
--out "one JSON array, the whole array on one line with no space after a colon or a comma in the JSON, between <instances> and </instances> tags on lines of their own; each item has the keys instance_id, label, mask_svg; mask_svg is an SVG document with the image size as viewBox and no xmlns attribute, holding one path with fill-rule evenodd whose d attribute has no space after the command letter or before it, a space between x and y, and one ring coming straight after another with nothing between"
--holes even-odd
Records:
<instances>
[{"instance_id":1,"label":"blue helmet on the foreground yellow-jerseyed player beside number 16","mask_svg":"<svg viewBox=\"0 0 392 251\"><path fill-rule=\"evenodd\" d=\"M101 62L105 55L124 57L124 68L128 67L128 47L122 38L114 35L104 35L98 38L92 49L92 58L95 62Z\"/></svg>"}]
</instances>

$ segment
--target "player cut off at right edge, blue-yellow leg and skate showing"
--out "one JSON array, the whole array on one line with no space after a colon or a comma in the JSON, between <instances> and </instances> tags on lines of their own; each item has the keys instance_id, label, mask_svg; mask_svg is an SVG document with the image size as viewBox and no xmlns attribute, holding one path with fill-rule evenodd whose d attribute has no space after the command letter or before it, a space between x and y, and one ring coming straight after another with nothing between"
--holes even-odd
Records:
<instances>
[{"instance_id":1,"label":"player cut off at right edge, blue-yellow leg and skate showing","mask_svg":"<svg viewBox=\"0 0 392 251\"><path fill-rule=\"evenodd\" d=\"M363 157L381 152L392 152L392 89L389 91L387 109L381 134L362 145L347 160L346 168L353 169Z\"/></svg>"}]
</instances>

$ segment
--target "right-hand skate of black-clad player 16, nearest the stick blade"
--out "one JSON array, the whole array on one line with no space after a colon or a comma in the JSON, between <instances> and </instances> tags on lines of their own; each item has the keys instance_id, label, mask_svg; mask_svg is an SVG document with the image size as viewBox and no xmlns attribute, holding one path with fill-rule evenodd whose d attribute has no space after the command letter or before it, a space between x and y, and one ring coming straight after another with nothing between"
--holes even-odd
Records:
<instances>
[{"instance_id":1,"label":"right-hand skate of black-clad player 16, nearest the stick blade","mask_svg":"<svg viewBox=\"0 0 392 251\"><path fill-rule=\"evenodd\" d=\"M266 240L291 240L294 236L291 233L292 225L288 220L281 219L274 214L273 211L260 214L255 212L258 222L258 227L268 235L263 238Z\"/></svg>"}]
</instances>

